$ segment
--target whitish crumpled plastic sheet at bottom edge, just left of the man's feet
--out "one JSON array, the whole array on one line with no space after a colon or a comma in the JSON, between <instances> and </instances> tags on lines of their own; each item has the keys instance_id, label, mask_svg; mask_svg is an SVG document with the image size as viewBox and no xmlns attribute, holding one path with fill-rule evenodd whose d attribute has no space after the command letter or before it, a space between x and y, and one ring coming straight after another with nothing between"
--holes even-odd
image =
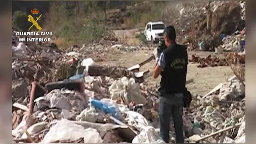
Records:
<instances>
[{"instance_id":1,"label":"whitish crumpled plastic sheet at bottom edge, just left of the man's feet","mask_svg":"<svg viewBox=\"0 0 256 144\"><path fill-rule=\"evenodd\" d=\"M135 136L132 143L165 143L163 139L157 134L154 127L143 127L140 134Z\"/></svg>"}]
</instances>

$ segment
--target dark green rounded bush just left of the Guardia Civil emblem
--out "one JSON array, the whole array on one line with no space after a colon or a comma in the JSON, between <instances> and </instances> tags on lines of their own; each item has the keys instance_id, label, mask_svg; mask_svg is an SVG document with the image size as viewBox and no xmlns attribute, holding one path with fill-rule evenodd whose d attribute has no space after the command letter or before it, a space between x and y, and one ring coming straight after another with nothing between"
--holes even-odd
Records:
<instances>
[{"instance_id":1,"label":"dark green rounded bush just left of the Guardia Civil emblem","mask_svg":"<svg viewBox=\"0 0 256 144\"><path fill-rule=\"evenodd\" d=\"M12 19L13 28L18 31L27 31L29 29L26 23L27 18L26 12L20 10L15 11Z\"/></svg>"}]
</instances>

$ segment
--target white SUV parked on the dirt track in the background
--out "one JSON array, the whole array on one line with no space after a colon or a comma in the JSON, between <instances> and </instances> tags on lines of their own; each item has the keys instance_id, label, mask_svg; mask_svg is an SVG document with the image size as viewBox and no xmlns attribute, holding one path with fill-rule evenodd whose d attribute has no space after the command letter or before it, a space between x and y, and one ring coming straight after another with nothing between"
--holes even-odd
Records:
<instances>
[{"instance_id":1,"label":"white SUV parked on the dirt track in the background","mask_svg":"<svg viewBox=\"0 0 256 144\"><path fill-rule=\"evenodd\" d=\"M151 41L153 44L154 41L163 40L163 30L165 27L163 22L148 22L144 31L147 41Z\"/></svg>"}]
</instances>

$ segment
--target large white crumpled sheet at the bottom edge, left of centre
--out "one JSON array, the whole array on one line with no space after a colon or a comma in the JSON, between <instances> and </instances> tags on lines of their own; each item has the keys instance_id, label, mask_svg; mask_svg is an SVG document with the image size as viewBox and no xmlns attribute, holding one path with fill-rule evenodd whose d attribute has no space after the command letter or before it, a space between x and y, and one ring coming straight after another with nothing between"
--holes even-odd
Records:
<instances>
[{"instance_id":1,"label":"large white crumpled sheet at the bottom edge, left of centre","mask_svg":"<svg viewBox=\"0 0 256 144\"><path fill-rule=\"evenodd\" d=\"M102 143L102 138L96 129L84 129L83 126L74 124L69 120L58 121L45 135L42 143L56 143L58 141L75 141L84 139L84 143Z\"/></svg>"}]
</instances>

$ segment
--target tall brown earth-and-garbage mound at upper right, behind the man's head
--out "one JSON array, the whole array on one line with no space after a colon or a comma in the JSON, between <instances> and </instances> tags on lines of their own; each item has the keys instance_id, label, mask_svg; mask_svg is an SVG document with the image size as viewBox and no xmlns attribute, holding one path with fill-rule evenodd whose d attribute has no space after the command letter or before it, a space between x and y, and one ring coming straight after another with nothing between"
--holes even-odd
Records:
<instances>
[{"instance_id":1,"label":"tall brown earth-and-garbage mound at upper right, behind the man's head","mask_svg":"<svg viewBox=\"0 0 256 144\"><path fill-rule=\"evenodd\" d=\"M205 50L214 51L222 44L221 35L232 35L245 27L245 1L188 1L176 4L175 8L173 2L170 4L162 19L175 26L177 41L190 50L198 50L198 43L204 42Z\"/></svg>"}]
</instances>

